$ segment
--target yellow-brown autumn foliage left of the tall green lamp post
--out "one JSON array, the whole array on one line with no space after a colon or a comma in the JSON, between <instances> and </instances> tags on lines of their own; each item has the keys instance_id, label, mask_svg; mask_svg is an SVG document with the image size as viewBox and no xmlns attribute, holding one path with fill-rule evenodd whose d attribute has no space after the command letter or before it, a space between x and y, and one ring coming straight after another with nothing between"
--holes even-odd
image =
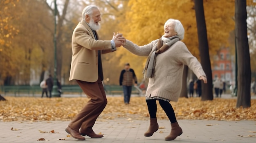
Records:
<instances>
[{"instance_id":1,"label":"yellow-brown autumn foliage left of the tall green lamp post","mask_svg":"<svg viewBox=\"0 0 256 143\"><path fill-rule=\"evenodd\" d=\"M53 43L46 27L52 18L47 17L49 13L41 3L35 0L0 1L0 81L16 77L16 84L29 84L30 72L41 73L41 65L52 61L53 56L49 53L52 53Z\"/></svg>"}]
</instances>

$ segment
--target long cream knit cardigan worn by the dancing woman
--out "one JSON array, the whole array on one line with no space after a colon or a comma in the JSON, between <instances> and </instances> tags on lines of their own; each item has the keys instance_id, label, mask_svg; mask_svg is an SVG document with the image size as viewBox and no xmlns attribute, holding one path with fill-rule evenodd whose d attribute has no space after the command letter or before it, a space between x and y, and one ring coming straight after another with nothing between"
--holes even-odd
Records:
<instances>
[{"instance_id":1,"label":"long cream knit cardigan worn by the dancing woman","mask_svg":"<svg viewBox=\"0 0 256 143\"><path fill-rule=\"evenodd\" d=\"M138 46L126 40L124 46L128 51L139 56L148 56L158 40L147 45ZM171 101L178 101L182 88L182 73L187 65L199 78L205 76L200 62L194 57L186 45L178 41L167 51L157 55L155 76L149 79L146 97L163 97Z\"/></svg>"}]
</instances>

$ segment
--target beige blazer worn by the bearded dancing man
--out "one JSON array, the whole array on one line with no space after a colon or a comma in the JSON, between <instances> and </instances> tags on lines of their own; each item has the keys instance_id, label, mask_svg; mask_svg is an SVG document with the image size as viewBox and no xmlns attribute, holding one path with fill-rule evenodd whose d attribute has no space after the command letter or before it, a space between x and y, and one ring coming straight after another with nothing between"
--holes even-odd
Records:
<instances>
[{"instance_id":1,"label":"beige blazer worn by the bearded dancing man","mask_svg":"<svg viewBox=\"0 0 256 143\"><path fill-rule=\"evenodd\" d=\"M97 33L96 33L97 35ZM84 20L77 24L72 34L72 60L70 79L95 82L98 79L98 51L111 52L110 40L95 40L91 28Z\"/></svg>"}]
</instances>

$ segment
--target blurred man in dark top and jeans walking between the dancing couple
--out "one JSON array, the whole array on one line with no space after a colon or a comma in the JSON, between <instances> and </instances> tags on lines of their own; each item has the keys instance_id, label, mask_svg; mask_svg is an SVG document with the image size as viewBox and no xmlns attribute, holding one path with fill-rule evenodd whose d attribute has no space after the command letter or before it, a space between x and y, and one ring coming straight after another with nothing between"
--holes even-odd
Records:
<instances>
[{"instance_id":1,"label":"blurred man in dark top and jeans walking between the dancing couple","mask_svg":"<svg viewBox=\"0 0 256 143\"><path fill-rule=\"evenodd\" d=\"M124 103L130 103L130 96L132 92L132 80L135 81L135 86L137 86L137 77L134 73L134 70L130 68L130 64L126 63L124 69L121 71L119 84L123 86L124 90Z\"/></svg>"}]
</instances>

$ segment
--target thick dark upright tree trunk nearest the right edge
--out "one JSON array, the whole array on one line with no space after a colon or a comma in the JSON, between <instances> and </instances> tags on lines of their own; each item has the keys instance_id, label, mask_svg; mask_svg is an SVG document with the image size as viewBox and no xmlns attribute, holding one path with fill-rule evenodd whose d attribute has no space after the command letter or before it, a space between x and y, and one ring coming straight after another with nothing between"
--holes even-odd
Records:
<instances>
[{"instance_id":1,"label":"thick dark upright tree trunk nearest the right edge","mask_svg":"<svg viewBox=\"0 0 256 143\"><path fill-rule=\"evenodd\" d=\"M251 106L251 64L247 37L246 0L235 1L235 33L238 65L238 90L236 107Z\"/></svg>"}]
</instances>

